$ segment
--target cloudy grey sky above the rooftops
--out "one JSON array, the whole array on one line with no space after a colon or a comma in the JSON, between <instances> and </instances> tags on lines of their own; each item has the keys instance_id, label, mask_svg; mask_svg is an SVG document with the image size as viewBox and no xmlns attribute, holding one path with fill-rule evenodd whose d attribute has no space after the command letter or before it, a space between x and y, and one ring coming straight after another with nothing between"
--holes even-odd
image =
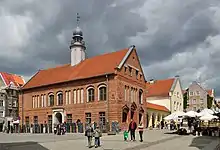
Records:
<instances>
[{"instance_id":1,"label":"cloudy grey sky above the rooftops","mask_svg":"<svg viewBox=\"0 0 220 150\"><path fill-rule=\"evenodd\" d=\"M147 80L179 75L220 96L219 0L0 0L0 71L28 80L70 63L76 13L88 57L135 45Z\"/></svg>"}]
</instances>

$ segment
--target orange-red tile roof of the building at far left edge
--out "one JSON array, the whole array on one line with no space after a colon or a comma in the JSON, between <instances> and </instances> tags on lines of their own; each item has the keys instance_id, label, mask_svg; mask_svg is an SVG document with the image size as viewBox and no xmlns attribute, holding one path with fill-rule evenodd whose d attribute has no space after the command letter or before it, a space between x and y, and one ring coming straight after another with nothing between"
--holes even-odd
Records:
<instances>
[{"instance_id":1,"label":"orange-red tile roof of the building at far left edge","mask_svg":"<svg viewBox=\"0 0 220 150\"><path fill-rule=\"evenodd\" d=\"M25 81L21 76L6 72L0 72L0 75L5 83L5 86L9 86L11 82L17 87L23 86L25 84Z\"/></svg>"}]
</instances>

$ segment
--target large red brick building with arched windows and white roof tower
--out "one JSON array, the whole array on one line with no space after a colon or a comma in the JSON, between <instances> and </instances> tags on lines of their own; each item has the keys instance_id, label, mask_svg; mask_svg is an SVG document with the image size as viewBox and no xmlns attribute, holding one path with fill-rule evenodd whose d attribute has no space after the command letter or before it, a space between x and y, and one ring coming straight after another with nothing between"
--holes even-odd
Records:
<instances>
[{"instance_id":1,"label":"large red brick building with arched windows and white roof tower","mask_svg":"<svg viewBox=\"0 0 220 150\"><path fill-rule=\"evenodd\" d=\"M39 70L22 88L22 123L145 122L145 78L136 48L85 58L82 31L71 42L71 64ZM80 59L78 59L80 58Z\"/></svg>"}]
</instances>

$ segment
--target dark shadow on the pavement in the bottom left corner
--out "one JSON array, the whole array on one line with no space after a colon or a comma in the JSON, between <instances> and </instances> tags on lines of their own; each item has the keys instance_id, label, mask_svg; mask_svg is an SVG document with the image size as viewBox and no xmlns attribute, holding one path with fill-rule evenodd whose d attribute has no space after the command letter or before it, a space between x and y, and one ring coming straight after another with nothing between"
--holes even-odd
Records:
<instances>
[{"instance_id":1,"label":"dark shadow on the pavement in the bottom left corner","mask_svg":"<svg viewBox=\"0 0 220 150\"><path fill-rule=\"evenodd\" d=\"M0 150L48 150L37 142L0 143Z\"/></svg>"}]
</instances>

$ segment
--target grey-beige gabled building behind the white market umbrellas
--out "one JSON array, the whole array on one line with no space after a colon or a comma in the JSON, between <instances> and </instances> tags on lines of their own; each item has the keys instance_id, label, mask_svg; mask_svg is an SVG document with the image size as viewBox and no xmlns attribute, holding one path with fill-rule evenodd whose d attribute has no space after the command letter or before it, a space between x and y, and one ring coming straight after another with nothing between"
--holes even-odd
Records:
<instances>
[{"instance_id":1,"label":"grey-beige gabled building behind the white market umbrellas","mask_svg":"<svg viewBox=\"0 0 220 150\"><path fill-rule=\"evenodd\" d=\"M208 108L208 96L214 98L214 90L204 89L198 82L194 81L186 90L187 92L187 111L203 110ZM214 106L214 100L212 106Z\"/></svg>"}]
</instances>

